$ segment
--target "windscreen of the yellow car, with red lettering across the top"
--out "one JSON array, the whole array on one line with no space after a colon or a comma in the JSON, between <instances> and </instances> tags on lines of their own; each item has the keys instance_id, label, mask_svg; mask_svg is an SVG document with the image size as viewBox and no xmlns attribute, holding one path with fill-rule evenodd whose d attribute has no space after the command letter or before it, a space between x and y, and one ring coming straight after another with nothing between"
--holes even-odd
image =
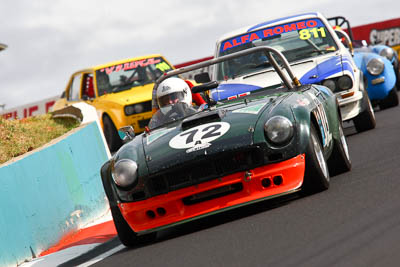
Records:
<instances>
[{"instance_id":1,"label":"windscreen of the yellow car, with red lettering across the top","mask_svg":"<svg viewBox=\"0 0 400 267\"><path fill-rule=\"evenodd\" d=\"M162 58L127 61L96 70L99 96L129 90L132 87L154 83L172 67Z\"/></svg>"}]
</instances>

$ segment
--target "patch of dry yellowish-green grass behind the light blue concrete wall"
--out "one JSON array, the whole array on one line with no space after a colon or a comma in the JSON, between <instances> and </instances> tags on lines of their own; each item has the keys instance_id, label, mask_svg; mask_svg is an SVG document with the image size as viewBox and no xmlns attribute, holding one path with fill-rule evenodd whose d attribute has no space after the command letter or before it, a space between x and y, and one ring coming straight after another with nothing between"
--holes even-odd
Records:
<instances>
[{"instance_id":1,"label":"patch of dry yellowish-green grass behind the light blue concrete wall","mask_svg":"<svg viewBox=\"0 0 400 267\"><path fill-rule=\"evenodd\" d=\"M41 147L78 126L74 119L55 119L50 113L21 120L0 117L0 164Z\"/></svg>"}]
</instances>

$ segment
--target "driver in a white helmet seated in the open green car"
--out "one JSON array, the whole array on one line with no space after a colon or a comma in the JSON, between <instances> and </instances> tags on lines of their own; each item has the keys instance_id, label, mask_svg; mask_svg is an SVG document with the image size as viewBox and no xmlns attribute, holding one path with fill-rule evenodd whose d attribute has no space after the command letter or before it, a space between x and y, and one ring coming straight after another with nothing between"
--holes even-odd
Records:
<instances>
[{"instance_id":1,"label":"driver in a white helmet seated in the open green car","mask_svg":"<svg viewBox=\"0 0 400 267\"><path fill-rule=\"evenodd\" d=\"M192 107L192 93L188 84L176 77L165 79L157 87L159 109L149 122L149 128L181 119L196 112Z\"/></svg>"}]
</instances>

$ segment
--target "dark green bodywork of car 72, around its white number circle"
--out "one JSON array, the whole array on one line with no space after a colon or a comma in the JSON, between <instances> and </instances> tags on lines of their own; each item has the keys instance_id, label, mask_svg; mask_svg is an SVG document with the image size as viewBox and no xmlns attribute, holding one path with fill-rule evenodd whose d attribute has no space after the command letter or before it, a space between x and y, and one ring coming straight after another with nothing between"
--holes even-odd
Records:
<instances>
[{"instance_id":1,"label":"dark green bodywork of car 72, around its white number circle","mask_svg":"<svg viewBox=\"0 0 400 267\"><path fill-rule=\"evenodd\" d=\"M314 96L314 97L312 97ZM318 99L317 102L315 99ZM281 89L280 93L256 97L247 97L235 101L227 101L217 105L214 111L205 110L200 114L211 113L221 110L225 116L220 119L230 124L229 131L211 142L211 146L199 151L186 153L186 149L173 149L169 141L182 132L182 121L177 121L165 128L156 129L150 133L136 136L131 142L125 144L111 159L112 163L122 158L129 158L138 163L139 184L133 191L144 190L145 177L154 175L175 166L185 165L199 157L205 157L205 153L211 156L221 151L230 151L254 144L262 144L265 154L281 153L282 161L303 154L309 141L310 123L316 123L312 119L313 110L317 103L322 103L327 115L332 140L324 147L326 158L333 148L333 139L338 138L338 106L335 95L328 89L318 85L305 85L294 90ZM255 106L263 106L257 114L237 113L243 108L252 109ZM269 144L264 135L264 123L271 117L280 115L290 119L295 126L295 134L291 142L284 147L276 147ZM196 115L194 115L196 116ZM318 123L316 123L316 128ZM254 129L254 130L252 130ZM185 129L186 130L186 129ZM165 131L164 134L160 134ZM320 132L321 135L321 132ZM322 136L321 140L322 140ZM150 140L150 144L147 144ZM110 172L109 172L110 174ZM104 179L105 177L103 177ZM111 177L109 182L116 188ZM131 190L115 190L119 199L129 199Z\"/></svg>"}]
</instances>

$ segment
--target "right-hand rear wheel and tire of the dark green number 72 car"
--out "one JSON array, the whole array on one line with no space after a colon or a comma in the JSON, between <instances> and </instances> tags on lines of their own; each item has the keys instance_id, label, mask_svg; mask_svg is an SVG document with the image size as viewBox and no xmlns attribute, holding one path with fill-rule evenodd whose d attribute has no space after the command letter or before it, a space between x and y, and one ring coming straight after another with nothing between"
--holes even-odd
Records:
<instances>
[{"instance_id":1,"label":"right-hand rear wheel and tire of the dark green number 72 car","mask_svg":"<svg viewBox=\"0 0 400 267\"><path fill-rule=\"evenodd\" d=\"M334 141L333 151L328 159L329 174L331 176L339 175L351 170L351 160L346 137L343 133L342 122L339 122L339 136Z\"/></svg>"}]
</instances>

